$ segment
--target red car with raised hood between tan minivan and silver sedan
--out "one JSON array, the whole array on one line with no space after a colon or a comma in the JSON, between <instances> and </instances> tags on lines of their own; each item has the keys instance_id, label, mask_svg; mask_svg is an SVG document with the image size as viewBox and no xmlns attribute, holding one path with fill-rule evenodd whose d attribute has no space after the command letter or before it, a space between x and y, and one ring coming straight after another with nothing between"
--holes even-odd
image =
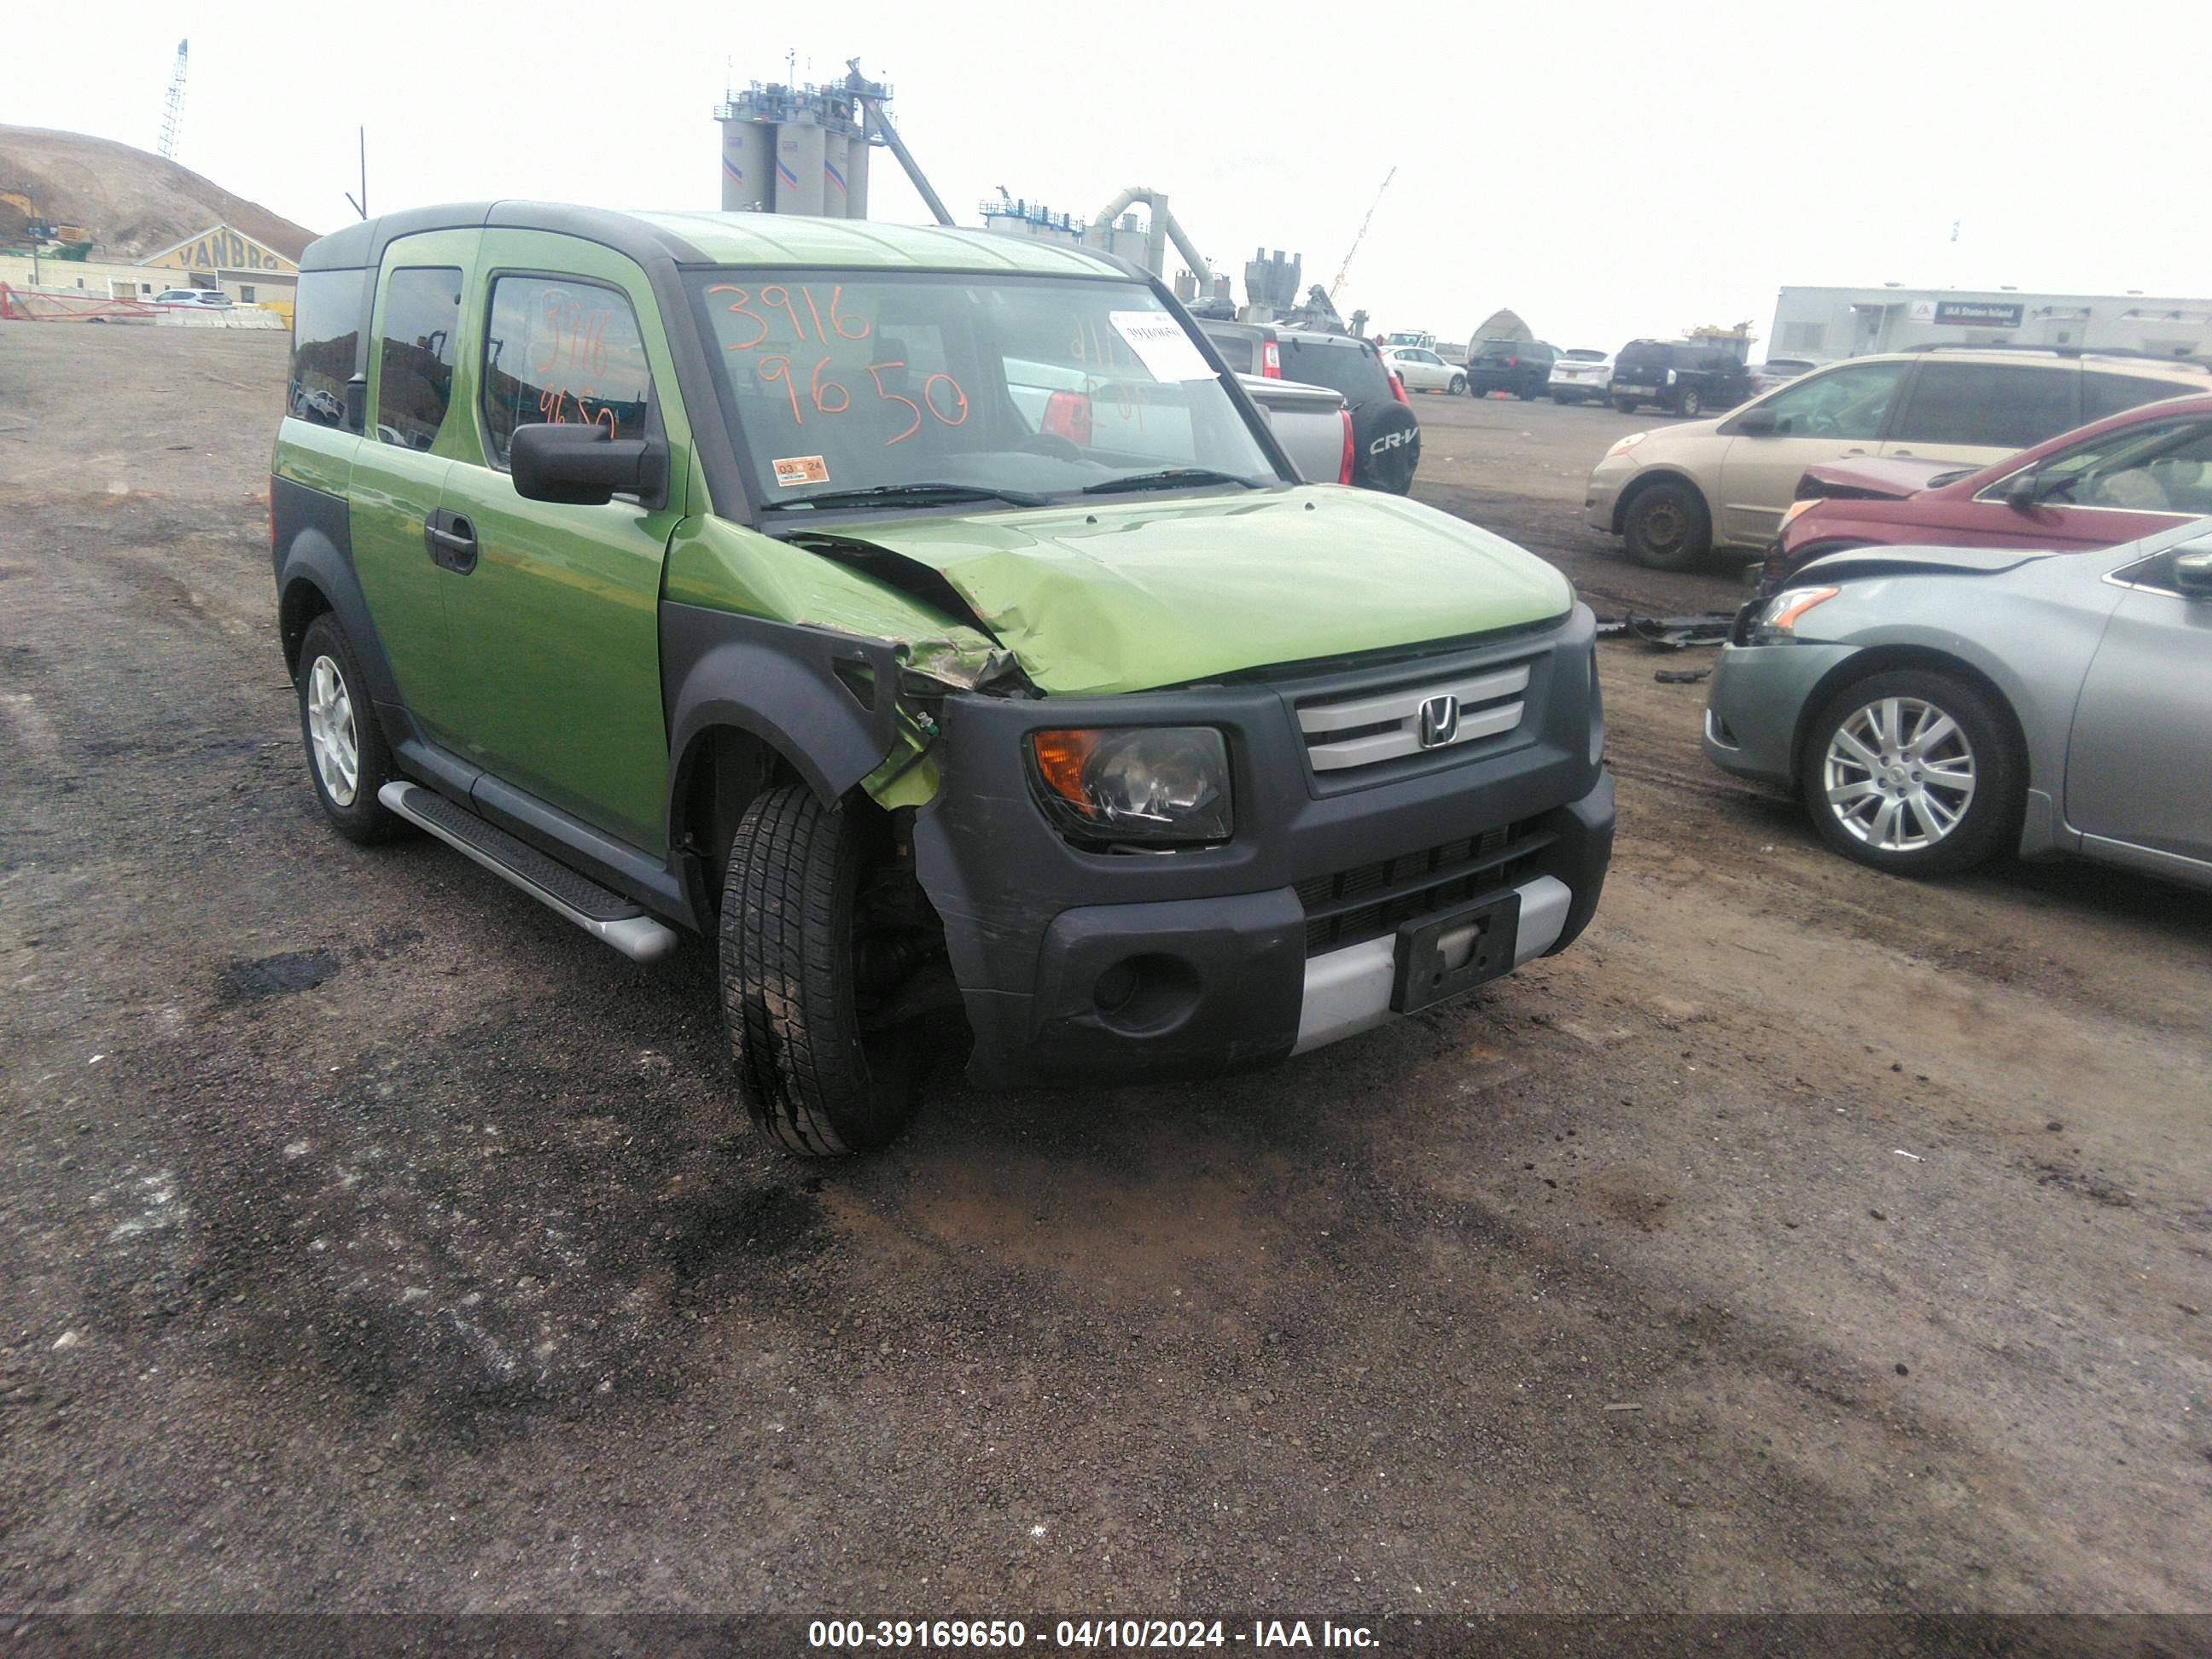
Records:
<instances>
[{"instance_id":1,"label":"red car with raised hood between tan minivan and silver sedan","mask_svg":"<svg viewBox=\"0 0 2212 1659\"><path fill-rule=\"evenodd\" d=\"M1770 591L1851 546L2117 546L2212 518L2212 396L2146 403L1978 471L1836 460L1796 495L1761 571Z\"/></svg>"}]
</instances>

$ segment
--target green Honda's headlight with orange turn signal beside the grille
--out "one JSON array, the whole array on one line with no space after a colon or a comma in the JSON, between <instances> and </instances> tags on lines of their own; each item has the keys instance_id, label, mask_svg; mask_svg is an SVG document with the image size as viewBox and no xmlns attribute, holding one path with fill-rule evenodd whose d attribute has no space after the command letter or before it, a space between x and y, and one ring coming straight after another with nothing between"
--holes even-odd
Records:
<instances>
[{"instance_id":1,"label":"green Honda's headlight with orange turn signal beside the grille","mask_svg":"<svg viewBox=\"0 0 2212 1659\"><path fill-rule=\"evenodd\" d=\"M1084 841L1192 845L1237 827L1212 726L1031 732L1029 768L1044 814Z\"/></svg>"}]
</instances>

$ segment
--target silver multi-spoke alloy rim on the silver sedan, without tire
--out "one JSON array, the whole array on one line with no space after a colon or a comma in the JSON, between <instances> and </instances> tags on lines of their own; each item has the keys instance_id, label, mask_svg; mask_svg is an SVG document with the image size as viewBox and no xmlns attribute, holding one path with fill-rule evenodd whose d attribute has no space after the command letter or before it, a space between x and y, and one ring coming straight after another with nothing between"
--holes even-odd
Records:
<instances>
[{"instance_id":1,"label":"silver multi-spoke alloy rim on the silver sedan, without tire","mask_svg":"<svg viewBox=\"0 0 2212 1659\"><path fill-rule=\"evenodd\" d=\"M1936 703L1882 697L1827 741L1820 787L1836 823L1878 852L1924 852L1973 805L1973 743Z\"/></svg>"}]
</instances>

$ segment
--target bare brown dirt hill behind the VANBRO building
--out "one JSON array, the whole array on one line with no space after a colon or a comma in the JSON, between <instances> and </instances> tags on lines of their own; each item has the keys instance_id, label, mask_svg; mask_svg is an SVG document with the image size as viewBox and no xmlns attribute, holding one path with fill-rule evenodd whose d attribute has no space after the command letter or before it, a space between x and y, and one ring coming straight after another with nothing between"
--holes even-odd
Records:
<instances>
[{"instance_id":1,"label":"bare brown dirt hill behind the VANBRO building","mask_svg":"<svg viewBox=\"0 0 2212 1659\"><path fill-rule=\"evenodd\" d=\"M31 197L55 223L86 226L95 259L144 259L215 223L243 230L285 259L299 259L316 237L159 155L46 126L0 124L0 190Z\"/></svg>"}]
</instances>

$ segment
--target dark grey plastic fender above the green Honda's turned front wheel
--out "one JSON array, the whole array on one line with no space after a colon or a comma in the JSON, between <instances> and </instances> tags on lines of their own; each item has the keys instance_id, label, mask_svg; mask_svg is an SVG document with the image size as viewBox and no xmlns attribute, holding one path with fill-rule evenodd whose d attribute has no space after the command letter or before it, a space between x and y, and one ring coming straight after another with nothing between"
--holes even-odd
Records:
<instances>
[{"instance_id":1,"label":"dark grey plastic fender above the green Honda's turned front wheel","mask_svg":"<svg viewBox=\"0 0 2212 1659\"><path fill-rule=\"evenodd\" d=\"M843 670L843 672L841 672ZM690 757L737 728L836 805L898 741L898 648L885 639L661 602L668 825L684 821Z\"/></svg>"}]
</instances>

